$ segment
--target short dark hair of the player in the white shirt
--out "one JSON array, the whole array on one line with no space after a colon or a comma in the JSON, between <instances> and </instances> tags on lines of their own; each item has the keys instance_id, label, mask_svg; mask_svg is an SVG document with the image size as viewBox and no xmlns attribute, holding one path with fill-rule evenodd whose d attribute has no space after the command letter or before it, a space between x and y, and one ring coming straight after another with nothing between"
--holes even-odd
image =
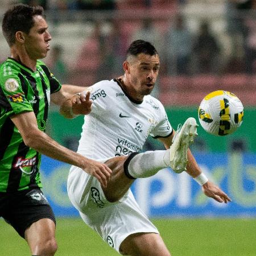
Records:
<instances>
[{"instance_id":1,"label":"short dark hair of the player in the white shirt","mask_svg":"<svg viewBox=\"0 0 256 256\"><path fill-rule=\"evenodd\" d=\"M129 48L126 51L127 57L129 55L137 56L139 53L144 53L150 56L158 55L155 47L152 46L150 42L146 42L144 40L135 40L130 44Z\"/></svg>"}]
</instances>

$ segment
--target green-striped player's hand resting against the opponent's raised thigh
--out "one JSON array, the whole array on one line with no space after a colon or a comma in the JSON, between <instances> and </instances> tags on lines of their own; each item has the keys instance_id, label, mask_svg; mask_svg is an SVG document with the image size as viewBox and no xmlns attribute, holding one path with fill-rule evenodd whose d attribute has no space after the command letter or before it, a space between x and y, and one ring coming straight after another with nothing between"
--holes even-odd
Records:
<instances>
[{"instance_id":1,"label":"green-striped player's hand resting against the opponent's raised thigh","mask_svg":"<svg viewBox=\"0 0 256 256\"><path fill-rule=\"evenodd\" d=\"M112 174L112 170L110 170L106 164L97 162L92 159L86 159L85 167L82 169L88 174L96 177L97 180L101 183L102 187L107 186Z\"/></svg>"}]
</instances>

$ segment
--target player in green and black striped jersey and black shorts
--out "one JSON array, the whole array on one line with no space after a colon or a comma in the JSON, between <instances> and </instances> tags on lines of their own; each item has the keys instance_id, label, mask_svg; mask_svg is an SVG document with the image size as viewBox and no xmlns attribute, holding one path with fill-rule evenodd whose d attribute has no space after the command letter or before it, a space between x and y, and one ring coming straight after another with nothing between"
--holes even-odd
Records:
<instances>
[{"instance_id":1,"label":"player in green and black striped jersey and black shorts","mask_svg":"<svg viewBox=\"0 0 256 256\"><path fill-rule=\"evenodd\" d=\"M105 186L111 170L53 141L44 131L50 100L65 117L88 114L89 93L64 85L39 59L47 56L51 35L40 6L15 5L2 21L10 57L0 66L0 217L26 239L32 255L54 255L55 217L41 191L40 154L73 164ZM3 248L2 248L3 250Z\"/></svg>"}]
</instances>

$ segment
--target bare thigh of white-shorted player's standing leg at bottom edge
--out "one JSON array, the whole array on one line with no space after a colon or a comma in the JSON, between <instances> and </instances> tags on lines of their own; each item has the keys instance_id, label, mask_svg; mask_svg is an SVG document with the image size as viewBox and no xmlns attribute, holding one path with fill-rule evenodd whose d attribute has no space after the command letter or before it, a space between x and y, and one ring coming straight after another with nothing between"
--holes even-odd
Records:
<instances>
[{"instance_id":1,"label":"bare thigh of white-shorted player's standing leg at bottom edge","mask_svg":"<svg viewBox=\"0 0 256 256\"><path fill-rule=\"evenodd\" d=\"M131 256L170 256L162 237L156 233L136 233L126 237L119 251Z\"/></svg>"}]
</instances>

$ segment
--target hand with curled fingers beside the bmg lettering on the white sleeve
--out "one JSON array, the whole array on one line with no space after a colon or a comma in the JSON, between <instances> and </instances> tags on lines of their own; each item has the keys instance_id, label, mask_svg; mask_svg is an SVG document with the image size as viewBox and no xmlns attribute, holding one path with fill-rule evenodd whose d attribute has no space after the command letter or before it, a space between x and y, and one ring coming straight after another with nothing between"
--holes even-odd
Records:
<instances>
[{"instance_id":1,"label":"hand with curled fingers beside the bmg lettering on the white sleeve","mask_svg":"<svg viewBox=\"0 0 256 256\"><path fill-rule=\"evenodd\" d=\"M90 100L90 92L86 95L79 93L71 98L72 112L75 115L87 115L92 111L92 101Z\"/></svg>"}]
</instances>

